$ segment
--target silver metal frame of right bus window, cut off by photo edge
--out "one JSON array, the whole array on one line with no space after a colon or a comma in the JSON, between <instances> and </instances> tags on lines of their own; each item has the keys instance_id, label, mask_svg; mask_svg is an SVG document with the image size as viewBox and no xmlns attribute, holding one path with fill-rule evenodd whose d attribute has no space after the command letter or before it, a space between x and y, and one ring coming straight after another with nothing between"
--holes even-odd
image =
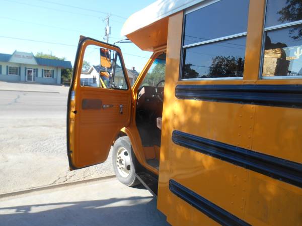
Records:
<instances>
[{"instance_id":1,"label":"silver metal frame of right bus window, cut off by photo edge","mask_svg":"<svg viewBox=\"0 0 302 226\"><path fill-rule=\"evenodd\" d=\"M302 26L302 20L299 21L293 21L288 22L284 24L274 25L265 27L265 20L266 20L266 12L267 12L267 2L268 0L265 0L265 9L264 9L264 20L263 20L263 30L262 30L262 44L261 44L261 58L260 58L260 67L259 67L259 80L270 80L270 79L300 79L302 76L293 76L293 75L282 75L282 76L262 76L263 71L263 61L264 61L264 48L265 48L265 35L269 31L276 31L281 30L283 28L289 28L295 25L301 25Z\"/></svg>"}]
</instances>

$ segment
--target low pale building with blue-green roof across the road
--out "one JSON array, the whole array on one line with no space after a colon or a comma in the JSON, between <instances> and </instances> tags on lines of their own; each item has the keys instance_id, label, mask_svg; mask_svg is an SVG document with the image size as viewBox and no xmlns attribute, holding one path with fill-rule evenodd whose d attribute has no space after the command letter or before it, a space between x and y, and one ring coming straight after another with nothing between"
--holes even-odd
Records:
<instances>
[{"instance_id":1,"label":"low pale building with blue-green roof across the road","mask_svg":"<svg viewBox=\"0 0 302 226\"><path fill-rule=\"evenodd\" d=\"M70 61L35 57L33 53L0 53L0 80L61 84L61 69L72 68Z\"/></svg>"}]
</instances>

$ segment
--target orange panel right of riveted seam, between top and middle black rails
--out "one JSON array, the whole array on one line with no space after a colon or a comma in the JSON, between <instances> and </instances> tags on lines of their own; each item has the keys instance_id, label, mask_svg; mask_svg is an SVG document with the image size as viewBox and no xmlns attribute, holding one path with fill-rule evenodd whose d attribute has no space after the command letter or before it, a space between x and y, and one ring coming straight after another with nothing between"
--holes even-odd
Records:
<instances>
[{"instance_id":1,"label":"orange panel right of riveted seam, between top and middle black rails","mask_svg":"<svg viewBox=\"0 0 302 226\"><path fill-rule=\"evenodd\" d=\"M252 149L302 163L302 109L256 106Z\"/></svg>"}]
</instances>

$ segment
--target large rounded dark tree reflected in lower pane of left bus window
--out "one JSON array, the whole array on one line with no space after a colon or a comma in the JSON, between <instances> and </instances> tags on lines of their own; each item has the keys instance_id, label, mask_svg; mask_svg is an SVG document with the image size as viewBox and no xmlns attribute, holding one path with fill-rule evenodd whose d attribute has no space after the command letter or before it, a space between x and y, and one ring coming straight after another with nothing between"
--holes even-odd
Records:
<instances>
[{"instance_id":1,"label":"large rounded dark tree reflected in lower pane of left bus window","mask_svg":"<svg viewBox=\"0 0 302 226\"><path fill-rule=\"evenodd\" d=\"M234 56L216 56L212 58L208 77L241 77L244 68L244 60Z\"/></svg>"}]
</instances>

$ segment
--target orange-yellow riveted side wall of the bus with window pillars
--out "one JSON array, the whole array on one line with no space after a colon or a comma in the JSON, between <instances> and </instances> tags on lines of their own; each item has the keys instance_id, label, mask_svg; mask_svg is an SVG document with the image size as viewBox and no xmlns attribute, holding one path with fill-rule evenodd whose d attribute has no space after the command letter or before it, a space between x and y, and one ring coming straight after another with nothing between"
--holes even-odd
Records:
<instances>
[{"instance_id":1,"label":"orange-yellow riveted side wall of the bus with window pillars","mask_svg":"<svg viewBox=\"0 0 302 226\"><path fill-rule=\"evenodd\" d=\"M264 0L250 2L249 29L263 22L264 5ZM261 49L262 30L248 29L244 80L179 81L182 23L183 13L169 19L158 208L173 225L302 225L302 188L294 174L302 164L302 109L175 96L180 84L301 80L258 80L255 53ZM258 32L260 42L253 42L254 33L249 41L252 32ZM253 168L255 156L260 160ZM284 180L276 166L282 161L289 166Z\"/></svg>"}]
</instances>

